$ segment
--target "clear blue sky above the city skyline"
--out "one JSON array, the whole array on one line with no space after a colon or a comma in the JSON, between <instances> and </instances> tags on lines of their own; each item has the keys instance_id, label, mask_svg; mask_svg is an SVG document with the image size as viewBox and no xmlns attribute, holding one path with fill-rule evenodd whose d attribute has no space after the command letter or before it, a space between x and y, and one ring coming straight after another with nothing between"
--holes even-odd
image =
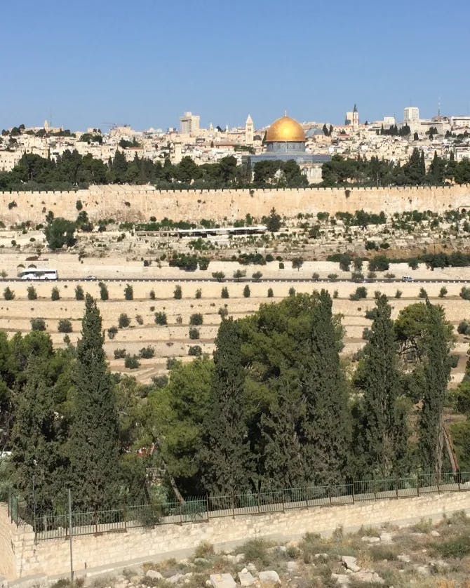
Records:
<instances>
[{"instance_id":1,"label":"clear blue sky above the city skyline","mask_svg":"<svg viewBox=\"0 0 470 588\"><path fill-rule=\"evenodd\" d=\"M470 114L468 0L1 4L1 128Z\"/></svg>"}]
</instances>

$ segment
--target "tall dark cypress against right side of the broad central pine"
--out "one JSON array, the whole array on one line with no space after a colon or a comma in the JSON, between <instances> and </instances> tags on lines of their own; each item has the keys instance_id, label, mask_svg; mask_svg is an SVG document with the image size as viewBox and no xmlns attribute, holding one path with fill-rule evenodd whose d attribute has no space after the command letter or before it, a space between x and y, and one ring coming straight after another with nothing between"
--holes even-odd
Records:
<instances>
[{"instance_id":1,"label":"tall dark cypress against right side of the broad central pine","mask_svg":"<svg viewBox=\"0 0 470 588\"><path fill-rule=\"evenodd\" d=\"M302 369L305 419L302 453L307 481L344 481L349 450L350 420L346 381L340 366L340 329L326 290L314 293L307 363Z\"/></svg>"}]
</instances>

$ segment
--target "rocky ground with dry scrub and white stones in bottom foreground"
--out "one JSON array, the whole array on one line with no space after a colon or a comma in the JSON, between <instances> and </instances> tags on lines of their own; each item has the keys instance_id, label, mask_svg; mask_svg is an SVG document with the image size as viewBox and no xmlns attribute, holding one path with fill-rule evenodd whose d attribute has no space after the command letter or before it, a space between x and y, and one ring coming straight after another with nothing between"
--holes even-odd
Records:
<instances>
[{"instance_id":1,"label":"rocky ground with dry scrub and white stones in bottom foreground","mask_svg":"<svg viewBox=\"0 0 470 588\"><path fill-rule=\"evenodd\" d=\"M60 580L53 588L65 588ZM83 579L76 584L83 584ZM287 543L250 540L234 552L200 544L182 561L124 569L116 577L87 577L92 588L470 588L470 519L457 513L410 528L336 530L328 539L307 533Z\"/></svg>"}]
</instances>

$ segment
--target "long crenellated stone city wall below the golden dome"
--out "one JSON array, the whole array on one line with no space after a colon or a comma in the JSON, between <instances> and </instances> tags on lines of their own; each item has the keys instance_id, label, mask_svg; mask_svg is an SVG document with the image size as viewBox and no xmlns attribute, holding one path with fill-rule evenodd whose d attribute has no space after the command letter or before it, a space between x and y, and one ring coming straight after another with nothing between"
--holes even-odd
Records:
<instances>
[{"instance_id":1,"label":"long crenellated stone city wall below the golden dome","mask_svg":"<svg viewBox=\"0 0 470 588\"><path fill-rule=\"evenodd\" d=\"M303 188L156 190L149 186L92 186L78 192L0 192L0 220L7 226L30 220L44 221L48 211L56 217L75 219L80 200L91 220L148 221L154 216L171 220L197 221L203 218L233 222L250 213L255 218L271 208L287 217L298 213L338 211L370 213L436 211L470 208L470 186L394 188ZM8 206L9 205L9 206ZM16 206L15 206L16 205Z\"/></svg>"}]
</instances>

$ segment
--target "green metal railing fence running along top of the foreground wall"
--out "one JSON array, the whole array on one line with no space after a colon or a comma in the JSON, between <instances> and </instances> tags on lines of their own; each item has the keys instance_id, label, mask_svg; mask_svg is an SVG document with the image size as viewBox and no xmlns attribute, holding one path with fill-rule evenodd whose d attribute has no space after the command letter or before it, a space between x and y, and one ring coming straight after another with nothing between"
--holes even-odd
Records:
<instances>
[{"instance_id":1,"label":"green metal railing fence running along top of the foreground wall","mask_svg":"<svg viewBox=\"0 0 470 588\"><path fill-rule=\"evenodd\" d=\"M118 509L72 512L69 515L34 516L24 502L10 493L8 516L17 525L27 523L34 529L35 540L126 531L136 527L194 523L222 516L241 516L288 509L352 505L356 502L417 497L425 494L470 491L470 472L419 474L409 478L353 481L335 486L304 486L272 492L227 496L194 497L180 502L159 505L133 505ZM70 523L72 522L72 525Z\"/></svg>"}]
</instances>

